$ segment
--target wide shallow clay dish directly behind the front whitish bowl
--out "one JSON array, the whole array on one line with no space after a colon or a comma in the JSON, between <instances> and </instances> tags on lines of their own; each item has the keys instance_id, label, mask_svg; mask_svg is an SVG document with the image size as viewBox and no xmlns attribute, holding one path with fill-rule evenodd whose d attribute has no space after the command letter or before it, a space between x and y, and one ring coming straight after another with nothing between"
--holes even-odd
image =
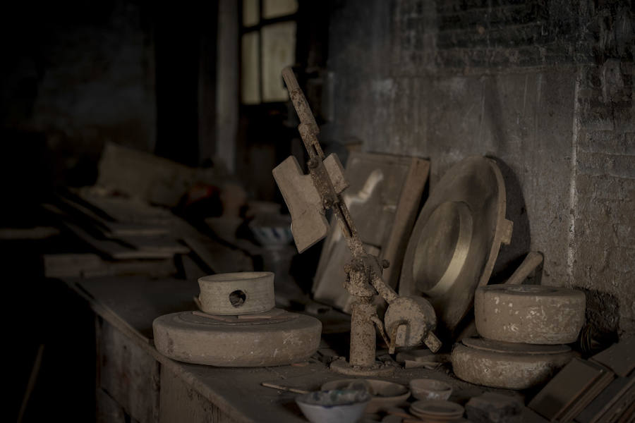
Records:
<instances>
[{"instance_id":1,"label":"wide shallow clay dish directly behind the front whitish bowl","mask_svg":"<svg viewBox=\"0 0 635 423\"><path fill-rule=\"evenodd\" d=\"M340 379L322 385L322 391L329 389L361 389L370 394L366 412L377 412L404 403L410 396L406 386L376 379Z\"/></svg>"}]
</instances>

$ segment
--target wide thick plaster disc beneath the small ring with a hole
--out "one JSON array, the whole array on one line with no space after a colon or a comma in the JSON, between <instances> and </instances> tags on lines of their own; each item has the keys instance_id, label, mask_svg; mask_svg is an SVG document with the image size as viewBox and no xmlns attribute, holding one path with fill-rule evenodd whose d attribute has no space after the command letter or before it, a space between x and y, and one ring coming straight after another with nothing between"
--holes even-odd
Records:
<instances>
[{"instance_id":1,"label":"wide thick plaster disc beneath the small ring with a hole","mask_svg":"<svg viewBox=\"0 0 635 423\"><path fill-rule=\"evenodd\" d=\"M314 317L287 312L269 320L237 322L179 312L157 317L152 329L159 353L174 360L218 367L258 367L308 360L320 345L322 323Z\"/></svg>"}]
</instances>

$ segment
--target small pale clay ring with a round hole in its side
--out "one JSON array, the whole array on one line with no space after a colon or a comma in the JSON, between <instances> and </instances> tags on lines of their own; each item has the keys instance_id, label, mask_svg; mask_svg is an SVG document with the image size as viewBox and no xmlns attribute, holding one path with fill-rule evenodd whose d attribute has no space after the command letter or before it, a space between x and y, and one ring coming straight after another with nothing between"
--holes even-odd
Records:
<instances>
[{"instance_id":1,"label":"small pale clay ring with a round hole in its side","mask_svg":"<svg viewBox=\"0 0 635 423\"><path fill-rule=\"evenodd\" d=\"M208 314L236 316L268 312L275 307L274 274L238 271L198 279L200 309Z\"/></svg>"}]
</instances>

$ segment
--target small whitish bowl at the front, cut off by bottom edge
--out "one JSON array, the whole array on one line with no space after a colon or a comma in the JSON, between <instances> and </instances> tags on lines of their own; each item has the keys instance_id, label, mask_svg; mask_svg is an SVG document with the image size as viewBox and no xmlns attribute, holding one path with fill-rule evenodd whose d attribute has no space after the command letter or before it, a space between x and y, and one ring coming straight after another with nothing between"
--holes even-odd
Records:
<instances>
[{"instance_id":1,"label":"small whitish bowl at the front, cut off by bottom edge","mask_svg":"<svg viewBox=\"0 0 635 423\"><path fill-rule=\"evenodd\" d=\"M355 423L370 402L366 391L332 390L296 397L298 407L311 423Z\"/></svg>"}]
</instances>

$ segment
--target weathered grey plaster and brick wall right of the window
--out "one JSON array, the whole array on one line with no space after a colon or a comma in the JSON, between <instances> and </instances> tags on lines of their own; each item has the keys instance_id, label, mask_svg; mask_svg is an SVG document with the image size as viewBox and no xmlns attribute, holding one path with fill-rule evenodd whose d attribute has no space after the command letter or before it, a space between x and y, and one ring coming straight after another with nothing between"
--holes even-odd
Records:
<instances>
[{"instance_id":1,"label":"weathered grey plaster and brick wall right of the window","mask_svg":"<svg viewBox=\"0 0 635 423\"><path fill-rule=\"evenodd\" d=\"M543 283L635 333L633 24L629 1L335 1L329 137L429 157L431 189L496 157L515 224L495 272L543 251Z\"/></svg>"}]
</instances>

